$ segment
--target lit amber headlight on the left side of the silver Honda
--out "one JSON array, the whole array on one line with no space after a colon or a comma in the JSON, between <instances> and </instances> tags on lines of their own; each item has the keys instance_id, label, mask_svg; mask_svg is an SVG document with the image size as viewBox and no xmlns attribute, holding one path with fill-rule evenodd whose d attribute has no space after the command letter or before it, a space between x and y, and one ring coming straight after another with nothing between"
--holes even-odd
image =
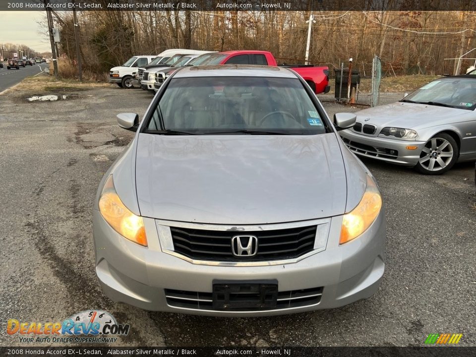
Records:
<instances>
[{"instance_id":1,"label":"lit amber headlight on the left side of the silver Honda","mask_svg":"<svg viewBox=\"0 0 476 357\"><path fill-rule=\"evenodd\" d=\"M133 214L120 200L114 188L111 175L103 187L99 198L99 212L107 223L122 237L133 242L147 246L145 227L142 217Z\"/></svg>"}]
</instances>

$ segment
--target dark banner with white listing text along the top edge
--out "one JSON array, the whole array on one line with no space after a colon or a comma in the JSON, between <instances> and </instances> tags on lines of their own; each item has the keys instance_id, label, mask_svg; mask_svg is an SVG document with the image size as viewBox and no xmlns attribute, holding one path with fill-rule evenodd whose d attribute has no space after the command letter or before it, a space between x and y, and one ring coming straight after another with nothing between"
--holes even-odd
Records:
<instances>
[{"instance_id":1,"label":"dark banner with white listing text along the top edge","mask_svg":"<svg viewBox=\"0 0 476 357\"><path fill-rule=\"evenodd\" d=\"M476 9L476 0L6 0L1 11L447 11Z\"/></svg>"}]
</instances>

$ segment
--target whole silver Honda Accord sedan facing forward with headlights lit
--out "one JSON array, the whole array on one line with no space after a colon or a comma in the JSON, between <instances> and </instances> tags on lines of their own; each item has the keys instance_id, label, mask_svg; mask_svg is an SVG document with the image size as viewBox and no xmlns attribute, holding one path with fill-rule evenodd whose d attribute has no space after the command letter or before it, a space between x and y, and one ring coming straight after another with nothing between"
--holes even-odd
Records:
<instances>
[{"instance_id":1,"label":"whole silver Honda Accord sedan facing forward with headlights lit","mask_svg":"<svg viewBox=\"0 0 476 357\"><path fill-rule=\"evenodd\" d=\"M260 316L374 294L385 212L369 170L295 72L179 69L102 179L94 204L104 293L140 308Z\"/></svg>"}]
</instances>

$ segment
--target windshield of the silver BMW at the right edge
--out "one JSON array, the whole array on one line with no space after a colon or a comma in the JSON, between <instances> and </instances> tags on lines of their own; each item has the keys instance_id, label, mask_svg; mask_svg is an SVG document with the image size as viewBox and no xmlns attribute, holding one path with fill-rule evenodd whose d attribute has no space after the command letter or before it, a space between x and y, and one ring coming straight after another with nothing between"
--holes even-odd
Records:
<instances>
[{"instance_id":1,"label":"windshield of the silver BMW at the right edge","mask_svg":"<svg viewBox=\"0 0 476 357\"><path fill-rule=\"evenodd\" d=\"M417 89L401 102L474 110L476 108L476 79L437 79Z\"/></svg>"}]
</instances>

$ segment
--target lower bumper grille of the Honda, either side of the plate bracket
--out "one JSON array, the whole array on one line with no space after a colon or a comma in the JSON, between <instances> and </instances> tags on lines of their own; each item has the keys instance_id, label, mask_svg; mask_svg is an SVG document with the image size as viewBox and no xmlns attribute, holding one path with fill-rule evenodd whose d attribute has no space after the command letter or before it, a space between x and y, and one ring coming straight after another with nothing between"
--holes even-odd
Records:
<instances>
[{"instance_id":1,"label":"lower bumper grille of the Honda, either side of the plate bracket","mask_svg":"<svg viewBox=\"0 0 476 357\"><path fill-rule=\"evenodd\" d=\"M316 305L320 302L323 287L309 288L301 290L292 290L286 292L278 292L278 300L276 307L246 307L235 309L214 309L213 293L189 292L183 290L165 289L167 304L172 307L189 308L195 310L215 310L215 311L263 311L269 309L286 309L295 307L304 307Z\"/></svg>"}]
</instances>

